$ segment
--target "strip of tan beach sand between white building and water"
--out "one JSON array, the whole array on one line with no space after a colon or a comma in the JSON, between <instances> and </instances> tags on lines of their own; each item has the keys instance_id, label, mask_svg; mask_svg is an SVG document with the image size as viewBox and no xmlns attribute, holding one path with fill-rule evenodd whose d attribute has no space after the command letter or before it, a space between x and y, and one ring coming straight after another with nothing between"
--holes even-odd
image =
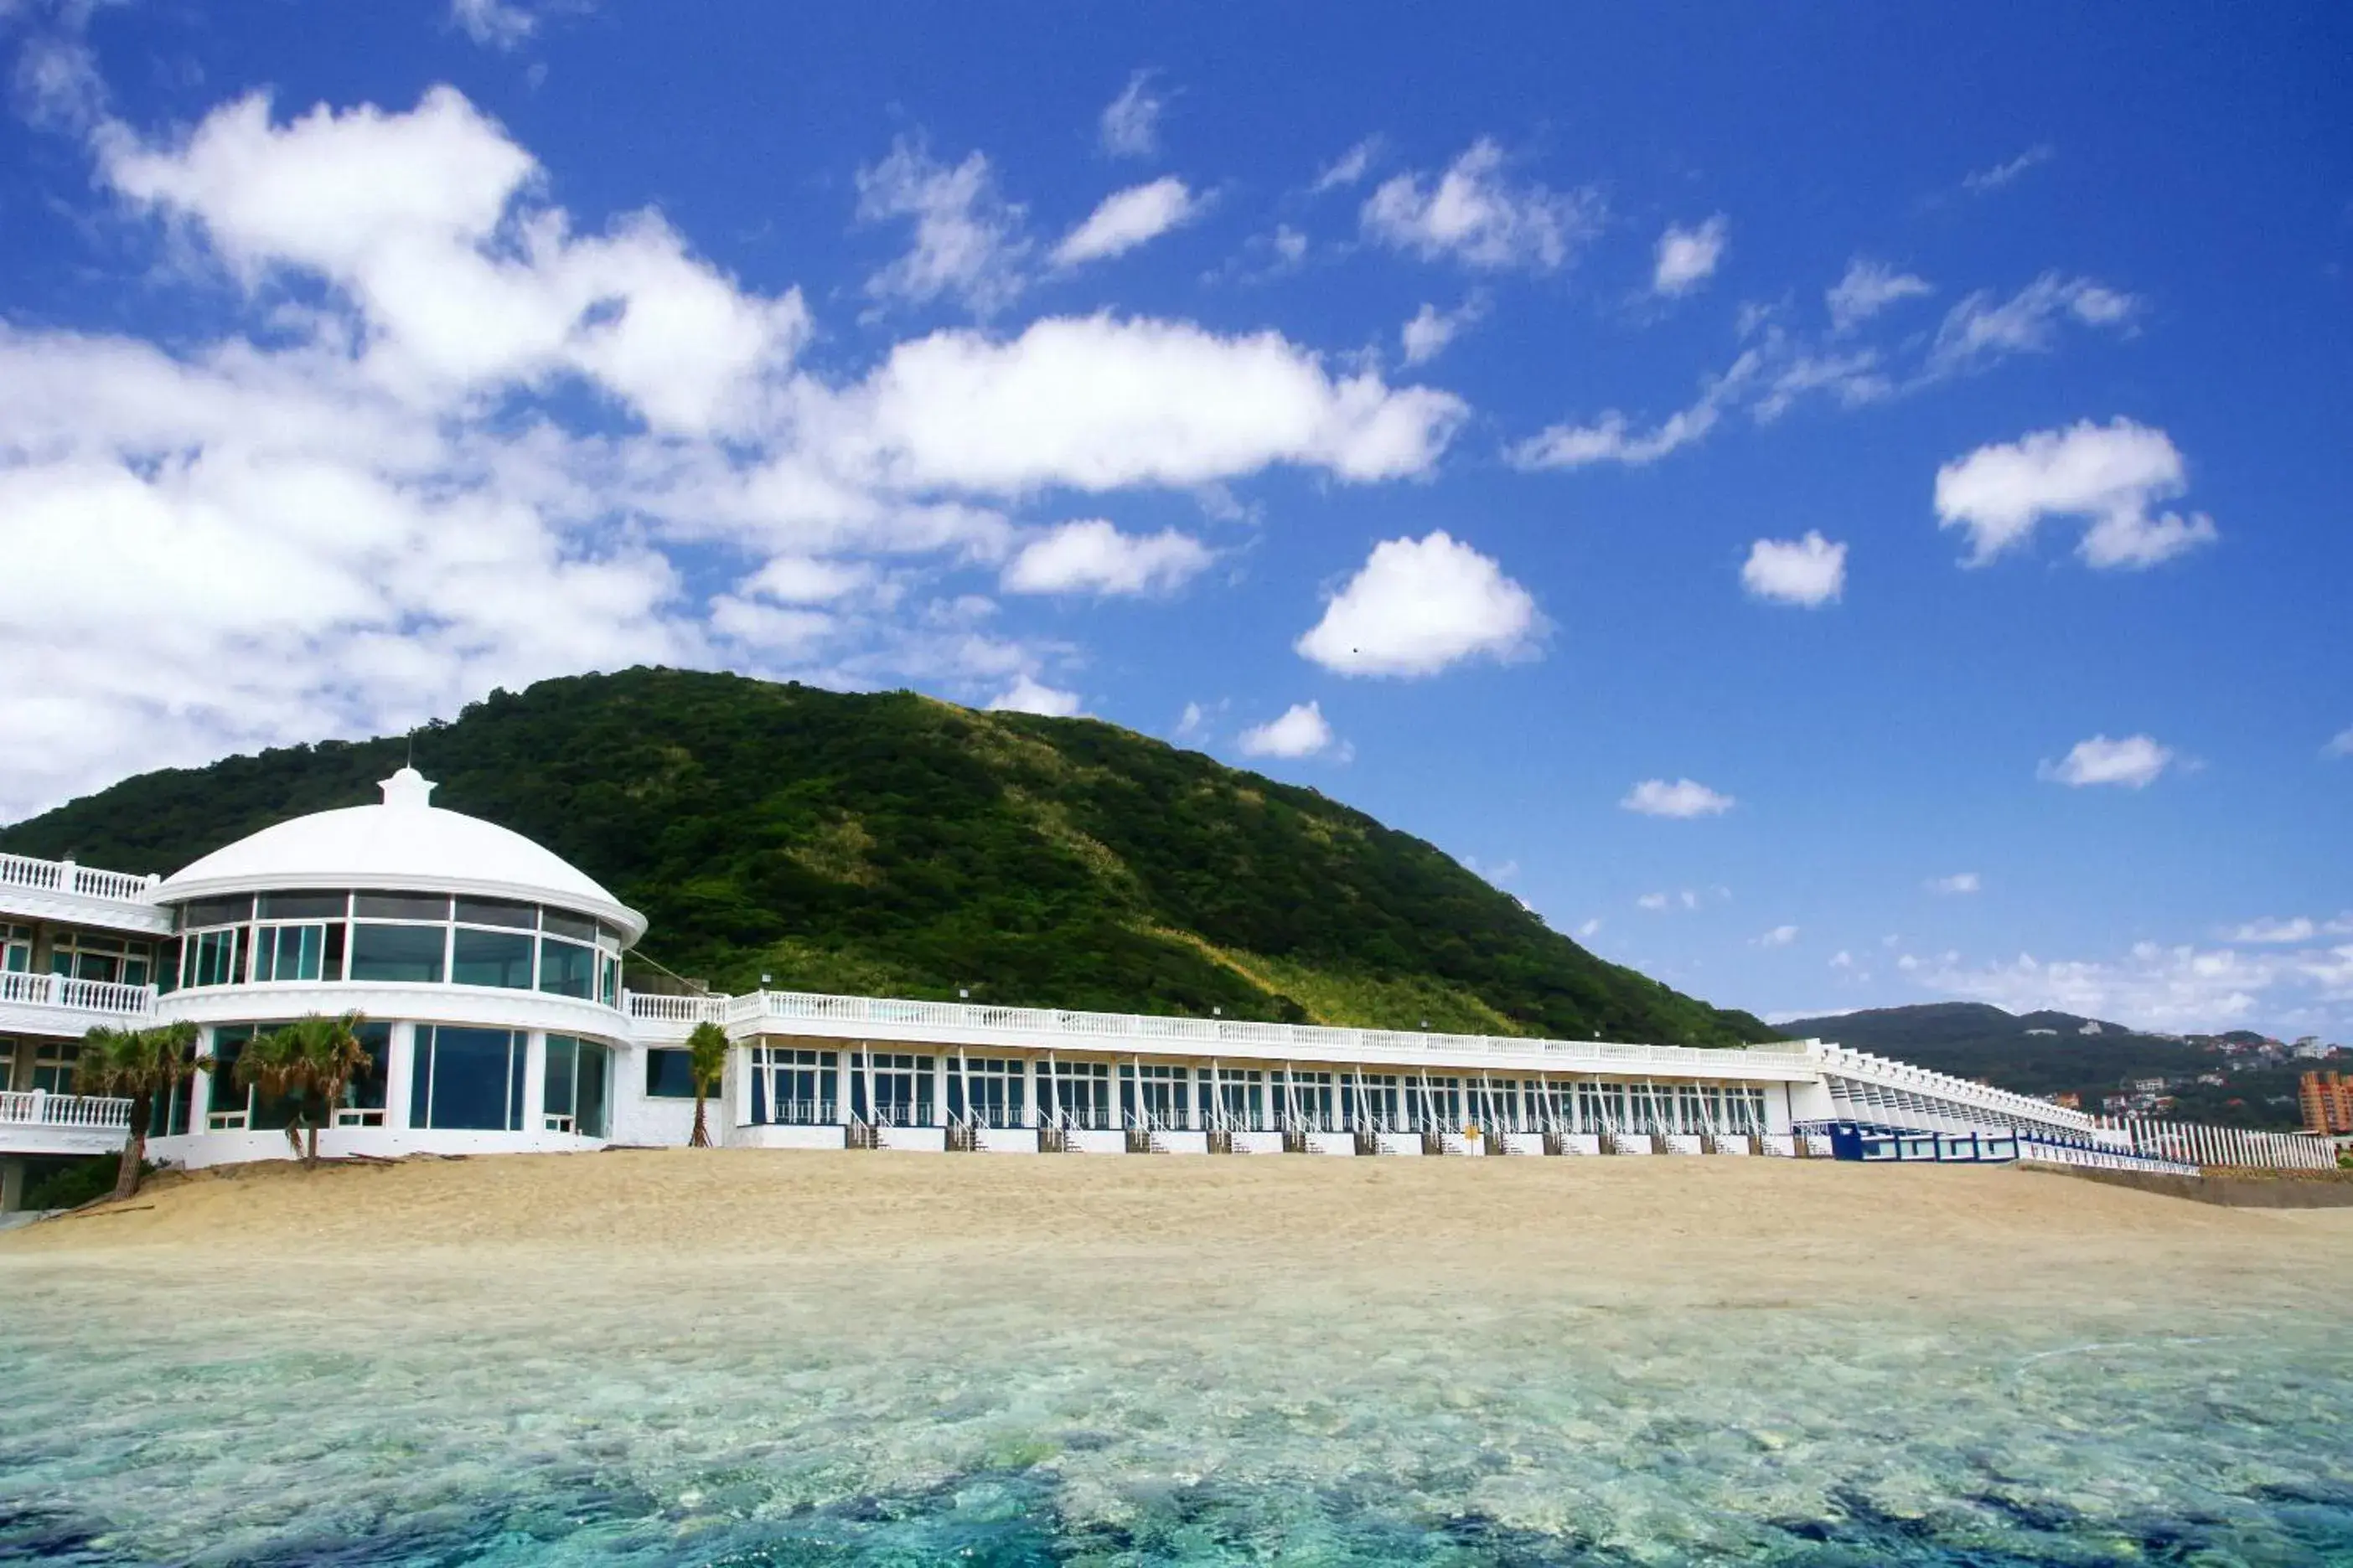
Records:
<instances>
[{"instance_id":1,"label":"strip of tan beach sand between white building and water","mask_svg":"<svg viewBox=\"0 0 2353 1568\"><path fill-rule=\"evenodd\" d=\"M2019 1168L1769 1159L922 1157L626 1150L165 1175L0 1237L0 1274L306 1267L842 1269L1605 1302L2322 1307L2353 1211L2247 1211Z\"/></svg>"}]
</instances>

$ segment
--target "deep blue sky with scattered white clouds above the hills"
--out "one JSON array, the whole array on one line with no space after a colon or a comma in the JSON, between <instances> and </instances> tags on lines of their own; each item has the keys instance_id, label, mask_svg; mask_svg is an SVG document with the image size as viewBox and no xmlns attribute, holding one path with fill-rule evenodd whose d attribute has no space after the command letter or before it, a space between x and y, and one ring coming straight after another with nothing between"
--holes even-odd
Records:
<instances>
[{"instance_id":1,"label":"deep blue sky with scattered white clouds above the hills","mask_svg":"<svg viewBox=\"0 0 2353 1568\"><path fill-rule=\"evenodd\" d=\"M2341 9L1200 9L0 2L0 816L666 661L2353 1034Z\"/></svg>"}]
</instances>

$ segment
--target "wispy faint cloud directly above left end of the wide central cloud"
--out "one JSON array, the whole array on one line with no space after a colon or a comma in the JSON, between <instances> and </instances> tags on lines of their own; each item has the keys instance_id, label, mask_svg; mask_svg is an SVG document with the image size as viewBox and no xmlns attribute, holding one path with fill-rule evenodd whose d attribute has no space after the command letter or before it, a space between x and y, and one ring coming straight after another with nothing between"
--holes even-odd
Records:
<instances>
[{"instance_id":1,"label":"wispy faint cloud directly above left end of the wide central cloud","mask_svg":"<svg viewBox=\"0 0 2353 1568\"><path fill-rule=\"evenodd\" d=\"M927 306L962 301L976 315L1009 306L1026 287L1024 209L998 195L988 158L934 162L918 139L899 139L889 158L859 169L859 221L908 219L913 247L866 280L866 294L887 303Z\"/></svg>"}]
</instances>

